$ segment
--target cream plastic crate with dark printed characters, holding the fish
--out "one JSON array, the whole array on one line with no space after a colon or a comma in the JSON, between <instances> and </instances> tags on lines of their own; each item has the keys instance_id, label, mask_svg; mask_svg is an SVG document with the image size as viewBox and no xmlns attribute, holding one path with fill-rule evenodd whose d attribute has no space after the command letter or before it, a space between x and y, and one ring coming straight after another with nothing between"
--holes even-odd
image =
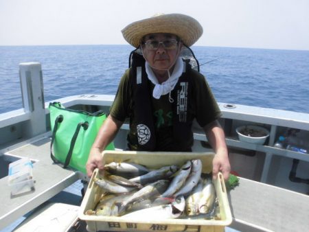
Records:
<instances>
[{"instance_id":1,"label":"cream plastic crate with dark printed characters, holding the fish","mask_svg":"<svg viewBox=\"0 0 309 232\"><path fill-rule=\"evenodd\" d=\"M104 163L129 161L145 165L149 169L157 169L166 165L183 165L185 161L201 159L203 163L203 173L212 170L213 153L193 153L193 152L120 152L104 151ZM115 216L89 216L85 212L95 209L100 196L104 192L98 185L94 184L93 179L100 176L98 170L93 172L87 191L82 200L78 217L87 222L88 231L224 231L225 226L232 222L231 209L227 198L227 190L222 174L214 181L216 196L220 207L220 220L206 219L166 219L156 220L155 218L136 218L128 219Z\"/></svg>"}]
</instances>

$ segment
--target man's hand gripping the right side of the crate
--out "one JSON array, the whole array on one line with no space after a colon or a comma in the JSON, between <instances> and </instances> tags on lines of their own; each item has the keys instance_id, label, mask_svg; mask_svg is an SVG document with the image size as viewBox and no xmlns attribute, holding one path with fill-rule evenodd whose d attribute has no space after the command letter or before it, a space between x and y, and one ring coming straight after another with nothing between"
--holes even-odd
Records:
<instances>
[{"instance_id":1,"label":"man's hand gripping the right side of the crate","mask_svg":"<svg viewBox=\"0 0 309 232\"><path fill-rule=\"evenodd\" d=\"M217 152L212 161L212 178L216 180L218 172L222 172L225 181L229 178L231 165L229 164L229 157L225 152Z\"/></svg>"}]
</instances>

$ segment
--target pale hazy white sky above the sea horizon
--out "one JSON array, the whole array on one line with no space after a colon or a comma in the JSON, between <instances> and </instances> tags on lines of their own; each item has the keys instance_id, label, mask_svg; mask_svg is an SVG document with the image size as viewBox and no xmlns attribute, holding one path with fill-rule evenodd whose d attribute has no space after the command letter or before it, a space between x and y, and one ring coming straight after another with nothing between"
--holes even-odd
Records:
<instances>
[{"instance_id":1,"label":"pale hazy white sky above the sea horizon","mask_svg":"<svg viewBox=\"0 0 309 232\"><path fill-rule=\"evenodd\" d=\"M123 45L157 13L199 21L198 46L309 50L309 0L0 0L0 46Z\"/></svg>"}]
</instances>

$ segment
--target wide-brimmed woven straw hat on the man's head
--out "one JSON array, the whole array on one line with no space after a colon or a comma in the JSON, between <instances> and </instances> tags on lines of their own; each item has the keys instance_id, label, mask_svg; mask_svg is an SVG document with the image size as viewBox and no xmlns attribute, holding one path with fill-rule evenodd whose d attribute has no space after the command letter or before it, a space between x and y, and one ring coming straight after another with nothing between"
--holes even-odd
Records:
<instances>
[{"instance_id":1,"label":"wide-brimmed woven straw hat on the man's head","mask_svg":"<svg viewBox=\"0 0 309 232\"><path fill-rule=\"evenodd\" d=\"M203 27L198 21L185 14L157 14L151 18L130 23L122 30L124 38L133 47L139 47L141 39L152 33L174 34L190 47L203 34Z\"/></svg>"}]
</instances>

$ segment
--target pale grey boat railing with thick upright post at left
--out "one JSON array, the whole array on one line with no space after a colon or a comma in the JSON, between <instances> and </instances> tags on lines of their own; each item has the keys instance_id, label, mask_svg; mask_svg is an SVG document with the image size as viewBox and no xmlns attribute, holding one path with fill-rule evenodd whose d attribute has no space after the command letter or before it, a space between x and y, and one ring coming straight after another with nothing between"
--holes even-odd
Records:
<instances>
[{"instance_id":1,"label":"pale grey boat railing with thick upright post at left","mask_svg":"<svg viewBox=\"0 0 309 232\"><path fill-rule=\"evenodd\" d=\"M14 139L29 139L50 130L49 102L44 102L41 64L21 63L19 69L24 107L0 114L0 149ZM61 102L67 108L95 106L103 108L108 113L114 97L115 95L73 95L62 97L53 102ZM225 129L227 145L266 153L265 170L268 170L271 165L273 155L309 161L308 154L273 147L278 135L286 128L299 129L304 137L308 138L309 114L221 102L218 105L222 111L220 123ZM266 144L256 145L239 141L235 128L243 124L258 124L267 128L270 131L270 136ZM207 141L203 130L196 125L194 124L194 139ZM122 126L122 130L128 131L127 123ZM264 172L264 175L267 176L267 172ZM266 176L262 177L262 181L266 181Z\"/></svg>"}]
</instances>

